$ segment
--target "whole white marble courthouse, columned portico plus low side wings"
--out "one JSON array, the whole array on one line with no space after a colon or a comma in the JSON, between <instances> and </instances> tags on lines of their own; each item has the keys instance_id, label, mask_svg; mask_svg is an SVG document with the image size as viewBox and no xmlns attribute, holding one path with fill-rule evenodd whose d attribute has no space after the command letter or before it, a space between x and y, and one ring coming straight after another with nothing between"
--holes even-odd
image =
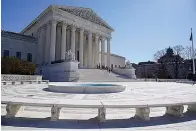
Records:
<instances>
[{"instance_id":1,"label":"whole white marble courthouse, columned portico plus low side wings","mask_svg":"<svg viewBox=\"0 0 196 131\"><path fill-rule=\"evenodd\" d=\"M51 5L20 33L2 31L2 56L30 54L32 62L47 65L71 50L80 68L124 67L125 57L110 50L113 31L90 8Z\"/></svg>"}]
</instances>

